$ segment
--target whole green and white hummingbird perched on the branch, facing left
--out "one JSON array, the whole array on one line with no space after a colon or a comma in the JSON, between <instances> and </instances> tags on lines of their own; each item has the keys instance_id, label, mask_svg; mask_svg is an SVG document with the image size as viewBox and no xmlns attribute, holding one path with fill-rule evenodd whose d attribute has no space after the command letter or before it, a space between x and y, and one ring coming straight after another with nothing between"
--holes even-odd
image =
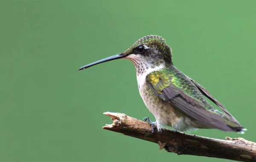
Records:
<instances>
[{"instance_id":1,"label":"whole green and white hummingbird perched on the branch, facing left","mask_svg":"<svg viewBox=\"0 0 256 162\"><path fill-rule=\"evenodd\" d=\"M161 36L140 38L126 51L78 70L121 58L130 60L136 67L140 96L156 119L156 122L151 122L148 117L143 119L151 125L152 133L154 128L160 132L165 126L172 127L175 132L218 129L243 134L247 130L204 87L174 66L172 49Z\"/></svg>"}]
</instances>

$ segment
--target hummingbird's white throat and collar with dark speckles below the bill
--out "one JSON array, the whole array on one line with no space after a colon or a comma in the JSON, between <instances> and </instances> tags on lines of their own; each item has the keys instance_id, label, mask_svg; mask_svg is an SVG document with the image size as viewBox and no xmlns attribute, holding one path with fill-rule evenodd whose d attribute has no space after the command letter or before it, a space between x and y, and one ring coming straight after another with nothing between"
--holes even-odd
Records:
<instances>
[{"instance_id":1,"label":"hummingbird's white throat and collar with dark speckles below the bill","mask_svg":"<svg viewBox=\"0 0 256 162\"><path fill-rule=\"evenodd\" d=\"M152 66L152 64L148 61L145 61L141 55L131 54L131 55L128 55L126 59L130 60L136 67L137 82L138 82L139 90L140 90L140 87L142 87L143 84L145 83L146 76L148 74L166 67L164 63L159 64L158 66Z\"/></svg>"}]
</instances>

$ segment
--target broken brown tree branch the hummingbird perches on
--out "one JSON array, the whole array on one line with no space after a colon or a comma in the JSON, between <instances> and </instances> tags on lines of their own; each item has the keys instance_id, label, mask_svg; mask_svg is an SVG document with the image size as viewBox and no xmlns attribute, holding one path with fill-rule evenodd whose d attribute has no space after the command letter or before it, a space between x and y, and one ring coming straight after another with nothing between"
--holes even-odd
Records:
<instances>
[{"instance_id":1,"label":"broken brown tree branch the hummingbird perches on","mask_svg":"<svg viewBox=\"0 0 256 162\"><path fill-rule=\"evenodd\" d=\"M112 118L113 124L106 124L103 129L157 143L160 150L164 148L166 151L178 155L256 162L256 143L243 138L212 139L179 132L174 133L174 131L167 129L161 133L154 130L152 133L151 126L141 120L122 113L106 112L104 114Z\"/></svg>"}]
</instances>

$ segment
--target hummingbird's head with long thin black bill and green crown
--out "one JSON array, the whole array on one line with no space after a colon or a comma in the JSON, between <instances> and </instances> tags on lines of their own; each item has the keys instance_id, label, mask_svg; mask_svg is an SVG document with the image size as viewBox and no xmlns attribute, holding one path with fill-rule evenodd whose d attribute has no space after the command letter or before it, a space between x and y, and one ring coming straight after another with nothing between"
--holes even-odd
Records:
<instances>
[{"instance_id":1,"label":"hummingbird's head with long thin black bill and green crown","mask_svg":"<svg viewBox=\"0 0 256 162\"><path fill-rule=\"evenodd\" d=\"M134 63L137 69L137 75L139 75L147 69L161 69L172 65L171 51L164 38L158 35L148 35L137 40L125 52L88 64L78 70L86 69L106 61L126 58Z\"/></svg>"}]
</instances>

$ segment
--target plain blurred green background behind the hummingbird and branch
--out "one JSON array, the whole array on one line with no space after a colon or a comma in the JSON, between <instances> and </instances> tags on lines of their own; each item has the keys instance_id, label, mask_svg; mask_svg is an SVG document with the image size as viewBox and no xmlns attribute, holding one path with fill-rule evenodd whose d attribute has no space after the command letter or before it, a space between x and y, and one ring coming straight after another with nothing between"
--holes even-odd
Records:
<instances>
[{"instance_id":1,"label":"plain blurred green background behind the hummingbird and branch","mask_svg":"<svg viewBox=\"0 0 256 162\"><path fill-rule=\"evenodd\" d=\"M103 130L106 111L154 119L134 65L76 70L161 35L175 66L248 129L194 134L256 142L255 17L255 0L0 0L0 161L227 161Z\"/></svg>"}]
</instances>

